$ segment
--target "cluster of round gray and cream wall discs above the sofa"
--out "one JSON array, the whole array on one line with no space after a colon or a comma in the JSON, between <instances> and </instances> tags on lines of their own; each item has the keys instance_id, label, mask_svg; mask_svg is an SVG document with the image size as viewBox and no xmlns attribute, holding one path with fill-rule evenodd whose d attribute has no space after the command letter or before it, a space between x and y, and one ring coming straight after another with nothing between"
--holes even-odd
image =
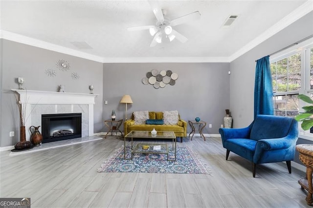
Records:
<instances>
[{"instance_id":1,"label":"cluster of round gray and cream wall discs above the sofa","mask_svg":"<svg viewBox=\"0 0 313 208\"><path fill-rule=\"evenodd\" d=\"M146 73L146 77L142 78L141 82L145 85L150 83L154 88L164 88L166 84L175 85L178 79L178 74L171 70L162 70L158 72L156 69Z\"/></svg>"}]
</instances>

